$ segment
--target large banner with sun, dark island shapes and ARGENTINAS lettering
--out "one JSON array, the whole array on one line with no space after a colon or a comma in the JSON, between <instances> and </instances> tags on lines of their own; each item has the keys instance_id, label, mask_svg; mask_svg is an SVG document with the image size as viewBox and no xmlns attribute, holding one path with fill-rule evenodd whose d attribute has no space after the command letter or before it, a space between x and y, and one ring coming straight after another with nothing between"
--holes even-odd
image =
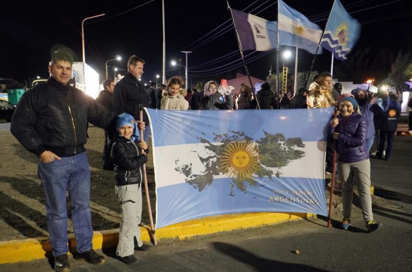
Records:
<instances>
[{"instance_id":1,"label":"large banner with sun, dark island shapes and ARGENTINAS lettering","mask_svg":"<svg viewBox=\"0 0 412 272\"><path fill-rule=\"evenodd\" d=\"M327 215L325 133L333 108L146 111L156 228L241 212Z\"/></svg>"}]
</instances>

